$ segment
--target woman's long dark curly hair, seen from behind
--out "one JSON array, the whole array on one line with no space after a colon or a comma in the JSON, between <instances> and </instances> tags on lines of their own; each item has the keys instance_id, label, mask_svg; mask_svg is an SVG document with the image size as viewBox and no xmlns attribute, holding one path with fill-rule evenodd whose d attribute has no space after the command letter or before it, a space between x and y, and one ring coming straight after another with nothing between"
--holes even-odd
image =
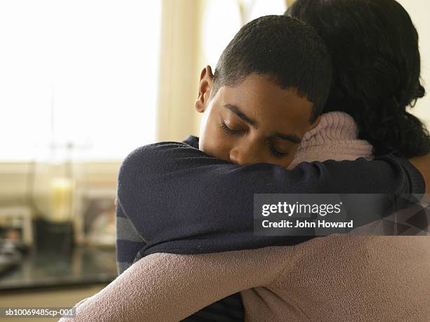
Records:
<instances>
[{"instance_id":1,"label":"woman's long dark curly hair, seen from behind","mask_svg":"<svg viewBox=\"0 0 430 322\"><path fill-rule=\"evenodd\" d=\"M425 94L419 82L418 34L394 0L297 0L286 15L313 26L332 55L333 79L323 112L356 120L375 156L422 156L430 135L406 111Z\"/></svg>"}]
</instances>

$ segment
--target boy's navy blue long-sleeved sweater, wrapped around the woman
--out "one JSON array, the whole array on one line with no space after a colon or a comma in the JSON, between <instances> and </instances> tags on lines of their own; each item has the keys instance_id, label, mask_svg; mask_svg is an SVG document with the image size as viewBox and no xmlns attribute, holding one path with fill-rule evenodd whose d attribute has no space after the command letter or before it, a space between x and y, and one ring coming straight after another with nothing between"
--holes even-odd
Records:
<instances>
[{"instance_id":1,"label":"boy's navy blue long-sleeved sweater, wrapped around the woman","mask_svg":"<svg viewBox=\"0 0 430 322\"><path fill-rule=\"evenodd\" d=\"M184 142L139 147L119 170L119 273L151 253L213 253L312 238L254 236L253 199L262 193L423 194L424 180L407 160L391 154L375 161L301 163L286 170L213 158L198 149L192 135Z\"/></svg>"}]
</instances>

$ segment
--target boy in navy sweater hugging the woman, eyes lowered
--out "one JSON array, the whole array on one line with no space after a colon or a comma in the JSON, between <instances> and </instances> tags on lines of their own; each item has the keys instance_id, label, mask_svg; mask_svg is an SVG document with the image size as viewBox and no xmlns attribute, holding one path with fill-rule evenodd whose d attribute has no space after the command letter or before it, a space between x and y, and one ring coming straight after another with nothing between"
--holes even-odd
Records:
<instances>
[{"instance_id":1,"label":"boy in navy sweater hugging the woman, eyes lowered","mask_svg":"<svg viewBox=\"0 0 430 322\"><path fill-rule=\"evenodd\" d=\"M389 156L382 158L388 163L315 163L285 170L304 133L318 125L330 82L330 56L311 27L285 16L242 27L215 73L208 66L200 74L195 103L204 113L200 139L143 147L124 161L118 185L119 273L150 253L209 253L309 239L253 236L254 193L421 191L419 173ZM346 175L350 187L344 187ZM240 297L230 303L240 305ZM227 304L211 307L217 311ZM190 321L202 316L197 312Z\"/></svg>"}]
</instances>

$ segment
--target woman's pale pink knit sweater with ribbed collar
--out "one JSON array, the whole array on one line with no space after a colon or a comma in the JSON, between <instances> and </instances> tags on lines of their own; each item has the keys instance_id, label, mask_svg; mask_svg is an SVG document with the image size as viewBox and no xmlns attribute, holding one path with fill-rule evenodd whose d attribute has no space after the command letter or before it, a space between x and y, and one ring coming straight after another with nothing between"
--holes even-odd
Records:
<instances>
[{"instance_id":1,"label":"woman's pale pink knit sweater with ribbed collar","mask_svg":"<svg viewBox=\"0 0 430 322\"><path fill-rule=\"evenodd\" d=\"M332 112L306 134L292 166L370 158L371 150L350 116ZM246 321L430 321L430 239L328 236L288 247L152 254L79 302L70 321L178 321L239 291Z\"/></svg>"}]
</instances>

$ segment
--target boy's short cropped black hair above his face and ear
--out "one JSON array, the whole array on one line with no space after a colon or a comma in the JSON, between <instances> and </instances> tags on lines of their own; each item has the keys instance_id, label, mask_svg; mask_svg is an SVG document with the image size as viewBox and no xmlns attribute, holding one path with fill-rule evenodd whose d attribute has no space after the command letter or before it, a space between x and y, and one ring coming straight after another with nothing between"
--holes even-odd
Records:
<instances>
[{"instance_id":1,"label":"boy's short cropped black hair above his face and ear","mask_svg":"<svg viewBox=\"0 0 430 322\"><path fill-rule=\"evenodd\" d=\"M284 15L248 22L224 49L214 73L211 97L249 74L268 75L281 88L295 88L313 103L310 123L322 112L332 81L325 43L313 27Z\"/></svg>"}]
</instances>

